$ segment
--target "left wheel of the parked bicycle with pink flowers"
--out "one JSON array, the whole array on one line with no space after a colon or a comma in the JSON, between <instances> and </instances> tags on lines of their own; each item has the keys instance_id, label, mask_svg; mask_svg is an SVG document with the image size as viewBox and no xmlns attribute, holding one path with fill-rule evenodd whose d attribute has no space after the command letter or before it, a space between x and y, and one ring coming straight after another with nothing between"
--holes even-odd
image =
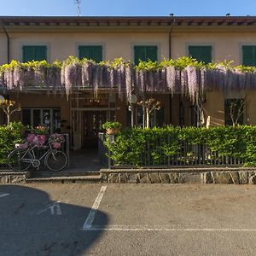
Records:
<instances>
[{"instance_id":1,"label":"left wheel of the parked bicycle with pink flowers","mask_svg":"<svg viewBox=\"0 0 256 256\"><path fill-rule=\"evenodd\" d=\"M32 159L32 154L26 149L15 149L8 156L8 166L15 172L23 172L31 166Z\"/></svg>"}]
</instances>

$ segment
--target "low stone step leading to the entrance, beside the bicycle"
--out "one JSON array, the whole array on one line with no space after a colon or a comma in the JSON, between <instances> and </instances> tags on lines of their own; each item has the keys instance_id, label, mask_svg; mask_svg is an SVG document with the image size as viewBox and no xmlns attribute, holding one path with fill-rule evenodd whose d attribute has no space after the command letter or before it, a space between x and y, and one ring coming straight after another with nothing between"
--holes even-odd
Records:
<instances>
[{"instance_id":1,"label":"low stone step leading to the entrance, beside the bicycle","mask_svg":"<svg viewBox=\"0 0 256 256\"><path fill-rule=\"evenodd\" d=\"M75 177L75 176L95 176L100 175L99 171L61 171L61 172L49 172L49 171L34 171L32 177Z\"/></svg>"}]
</instances>

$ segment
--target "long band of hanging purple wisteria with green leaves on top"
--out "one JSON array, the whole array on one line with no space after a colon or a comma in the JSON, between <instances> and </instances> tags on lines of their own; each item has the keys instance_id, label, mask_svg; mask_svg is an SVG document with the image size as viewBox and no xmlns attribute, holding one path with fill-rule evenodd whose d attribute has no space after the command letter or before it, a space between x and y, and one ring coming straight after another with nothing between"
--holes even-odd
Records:
<instances>
[{"instance_id":1,"label":"long band of hanging purple wisteria with green leaves on top","mask_svg":"<svg viewBox=\"0 0 256 256\"><path fill-rule=\"evenodd\" d=\"M189 57L160 63L141 61L137 66L122 58L96 63L69 57L66 61L12 61L0 67L0 86L8 90L117 89L119 96L143 91L181 93L195 101L204 90L254 90L255 67L232 67L230 63L204 63Z\"/></svg>"}]
</instances>

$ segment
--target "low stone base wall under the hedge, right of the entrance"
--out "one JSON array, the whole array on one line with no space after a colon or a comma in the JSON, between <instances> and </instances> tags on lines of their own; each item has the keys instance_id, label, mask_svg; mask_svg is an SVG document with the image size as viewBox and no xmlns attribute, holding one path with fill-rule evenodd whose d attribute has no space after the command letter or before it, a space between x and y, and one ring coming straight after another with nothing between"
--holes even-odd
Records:
<instances>
[{"instance_id":1,"label":"low stone base wall under the hedge, right of the entrance","mask_svg":"<svg viewBox=\"0 0 256 256\"><path fill-rule=\"evenodd\" d=\"M256 184L256 169L101 170L103 183L224 183Z\"/></svg>"}]
</instances>

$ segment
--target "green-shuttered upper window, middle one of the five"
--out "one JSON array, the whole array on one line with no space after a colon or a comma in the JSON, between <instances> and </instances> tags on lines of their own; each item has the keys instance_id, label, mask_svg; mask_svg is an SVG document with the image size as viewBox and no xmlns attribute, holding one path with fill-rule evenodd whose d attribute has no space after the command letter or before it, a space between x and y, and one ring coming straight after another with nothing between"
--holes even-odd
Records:
<instances>
[{"instance_id":1,"label":"green-shuttered upper window, middle one of the five","mask_svg":"<svg viewBox=\"0 0 256 256\"><path fill-rule=\"evenodd\" d=\"M134 63L139 61L157 61L157 46L134 46Z\"/></svg>"}]
</instances>

